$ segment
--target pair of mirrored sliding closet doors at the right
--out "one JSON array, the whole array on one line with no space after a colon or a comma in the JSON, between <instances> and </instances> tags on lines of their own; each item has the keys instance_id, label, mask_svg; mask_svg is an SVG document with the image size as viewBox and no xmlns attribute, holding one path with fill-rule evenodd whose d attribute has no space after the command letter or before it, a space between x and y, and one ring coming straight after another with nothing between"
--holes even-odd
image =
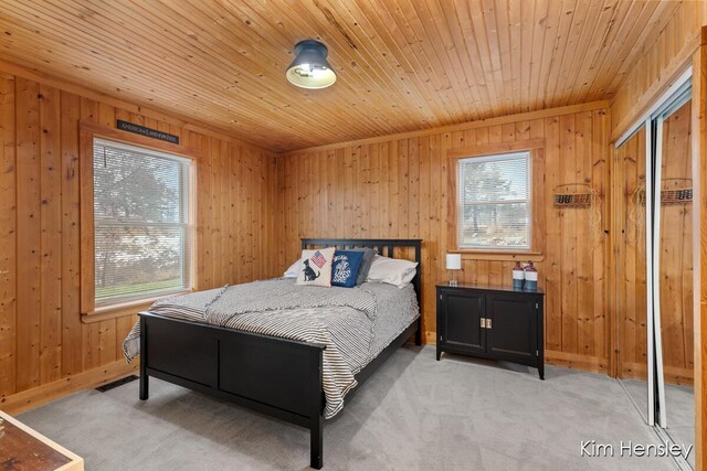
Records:
<instances>
[{"instance_id":1,"label":"pair of mirrored sliding closet doors at the right","mask_svg":"<svg viewBox=\"0 0 707 471\"><path fill-rule=\"evenodd\" d=\"M689 77L618 142L618 376L648 426L694 443ZM694 463L694 450L678 460Z\"/></svg>"}]
</instances>

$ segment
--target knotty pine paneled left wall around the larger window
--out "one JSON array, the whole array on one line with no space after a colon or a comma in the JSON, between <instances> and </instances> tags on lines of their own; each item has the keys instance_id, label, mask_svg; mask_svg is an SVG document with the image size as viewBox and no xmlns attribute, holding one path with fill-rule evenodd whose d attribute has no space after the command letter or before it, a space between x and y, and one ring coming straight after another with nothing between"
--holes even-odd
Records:
<instances>
[{"instance_id":1,"label":"knotty pine paneled left wall around the larger window","mask_svg":"<svg viewBox=\"0 0 707 471\"><path fill-rule=\"evenodd\" d=\"M128 371L122 342L135 314L84 322L80 311L80 283L92 282L80 270L80 121L124 119L201 150L198 288L279 270L275 154L126 108L0 73L0 408Z\"/></svg>"}]
</instances>

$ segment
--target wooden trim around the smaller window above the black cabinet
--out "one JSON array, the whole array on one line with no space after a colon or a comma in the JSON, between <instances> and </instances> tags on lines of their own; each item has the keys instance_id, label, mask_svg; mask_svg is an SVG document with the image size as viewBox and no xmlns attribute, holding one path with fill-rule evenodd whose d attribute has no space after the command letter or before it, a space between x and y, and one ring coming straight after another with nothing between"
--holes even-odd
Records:
<instances>
[{"instance_id":1,"label":"wooden trim around the smaller window above the black cabinet","mask_svg":"<svg viewBox=\"0 0 707 471\"><path fill-rule=\"evenodd\" d=\"M493 248L462 248L458 246L458 164L460 160L493 157L504 153L529 152L530 153L530 248L509 248L504 250ZM545 139L528 139L523 141L504 142L497 144L482 144L454 149L447 152L447 176L450 194L447 195L447 248L450 253L492 255L494 259L500 257L519 259L519 256L539 256L545 251L545 190L542 184L537 184L545 179Z\"/></svg>"}]
</instances>

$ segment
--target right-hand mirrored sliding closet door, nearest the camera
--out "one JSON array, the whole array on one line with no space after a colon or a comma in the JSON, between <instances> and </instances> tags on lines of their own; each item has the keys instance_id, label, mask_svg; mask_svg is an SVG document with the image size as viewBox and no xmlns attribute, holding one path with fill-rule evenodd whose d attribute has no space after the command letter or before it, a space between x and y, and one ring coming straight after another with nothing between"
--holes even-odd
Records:
<instances>
[{"instance_id":1,"label":"right-hand mirrored sliding closet door, nearest the camera","mask_svg":"<svg viewBox=\"0 0 707 471\"><path fill-rule=\"evenodd\" d=\"M695 424L689 94L678 97L655 122L661 190L654 199L658 425L676 443L689 445ZM687 459L694 460L694 453Z\"/></svg>"}]
</instances>

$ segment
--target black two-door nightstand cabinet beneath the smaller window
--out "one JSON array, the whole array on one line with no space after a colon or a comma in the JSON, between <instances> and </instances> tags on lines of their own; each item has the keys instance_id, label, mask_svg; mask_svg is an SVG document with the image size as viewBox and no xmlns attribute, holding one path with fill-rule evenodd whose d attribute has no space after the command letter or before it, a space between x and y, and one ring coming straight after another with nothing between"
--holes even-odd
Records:
<instances>
[{"instance_id":1,"label":"black two-door nightstand cabinet beneath the smaller window","mask_svg":"<svg viewBox=\"0 0 707 471\"><path fill-rule=\"evenodd\" d=\"M545 379L541 291L437 285L437 361L442 352L538 368Z\"/></svg>"}]
</instances>

